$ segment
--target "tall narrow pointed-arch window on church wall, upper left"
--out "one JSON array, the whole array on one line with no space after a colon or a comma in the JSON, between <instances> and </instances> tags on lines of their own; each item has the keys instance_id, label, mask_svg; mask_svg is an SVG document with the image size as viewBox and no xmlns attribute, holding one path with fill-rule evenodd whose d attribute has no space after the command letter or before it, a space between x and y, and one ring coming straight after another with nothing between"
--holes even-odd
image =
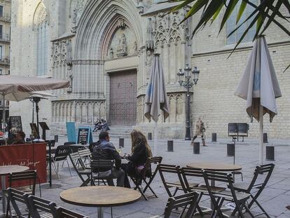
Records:
<instances>
[{"instance_id":1,"label":"tall narrow pointed-arch window on church wall, upper left","mask_svg":"<svg viewBox=\"0 0 290 218\"><path fill-rule=\"evenodd\" d=\"M48 13L43 3L37 6L34 13L34 29L36 30L36 76L48 73Z\"/></svg>"}]
</instances>

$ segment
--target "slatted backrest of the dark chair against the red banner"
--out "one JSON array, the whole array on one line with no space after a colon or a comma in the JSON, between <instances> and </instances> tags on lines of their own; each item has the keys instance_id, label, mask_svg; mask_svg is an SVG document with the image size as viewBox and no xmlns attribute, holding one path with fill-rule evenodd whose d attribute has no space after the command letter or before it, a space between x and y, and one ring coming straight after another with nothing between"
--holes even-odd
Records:
<instances>
[{"instance_id":1,"label":"slatted backrest of the dark chair against the red banner","mask_svg":"<svg viewBox=\"0 0 290 218\"><path fill-rule=\"evenodd\" d=\"M36 170L13 172L8 175L9 187L13 186L13 182L26 181L29 182L29 185L32 185L32 190L29 192L31 192L34 195L36 186L36 177L37 177Z\"/></svg>"}]
</instances>

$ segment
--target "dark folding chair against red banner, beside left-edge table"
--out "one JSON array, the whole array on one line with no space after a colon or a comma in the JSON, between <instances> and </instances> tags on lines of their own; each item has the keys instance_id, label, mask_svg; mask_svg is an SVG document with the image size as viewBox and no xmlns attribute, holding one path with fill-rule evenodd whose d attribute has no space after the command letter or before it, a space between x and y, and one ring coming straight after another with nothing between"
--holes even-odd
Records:
<instances>
[{"instance_id":1,"label":"dark folding chair against red banner, beside left-edge table","mask_svg":"<svg viewBox=\"0 0 290 218\"><path fill-rule=\"evenodd\" d=\"M19 191L22 191L23 193L31 193L35 194L35 186L36 186L36 170L26 170L23 172L13 172L10 175L8 175L8 181L9 181L9 187L13 186L14 182L18 181L24 181L29 183L29 186L20 186L18 187ZM8 191L4 191L4 196L8 198ZM8 212L10 212L10 200L8 198L7 201L7 208L6 208L6 215L8 215Z\"/></svg>"}]
</instances>

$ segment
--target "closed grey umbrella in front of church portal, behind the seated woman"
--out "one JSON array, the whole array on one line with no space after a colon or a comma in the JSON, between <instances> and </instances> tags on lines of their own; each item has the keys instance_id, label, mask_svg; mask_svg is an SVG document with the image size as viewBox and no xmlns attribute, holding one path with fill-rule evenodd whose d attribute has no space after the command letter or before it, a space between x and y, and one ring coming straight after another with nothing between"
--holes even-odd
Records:
<instances>
[{"instance_id":1,"label":"closed grey umbrella in front of church portal, behind the seated woman","mask_svg":"<svg viewBox=\"0 0 290 218\"><path fill-rule=\"evenodd\" d=\"M151 75L145 95L145 111L144 116L155 122L154 125L154 155L157 153L157 121L163 111L164 121L169 116L169 107L167 101L167 93L165 89L165 81L163 68L159 54L154 54L151 67Z\"/></svg>"}]
</instances>

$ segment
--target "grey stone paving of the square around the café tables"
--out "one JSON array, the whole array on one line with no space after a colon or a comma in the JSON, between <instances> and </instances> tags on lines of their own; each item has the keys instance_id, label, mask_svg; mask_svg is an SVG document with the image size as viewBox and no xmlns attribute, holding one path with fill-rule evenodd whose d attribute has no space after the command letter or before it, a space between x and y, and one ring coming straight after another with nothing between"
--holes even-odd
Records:
<instances>
[{"instance_id":1,"label":"grey stone paving of the square around the caf\u00e9 tables","mask_svg":"<svg viewBox=\"0 0 290 218\"><path fill-rule=\"evenodd\" d=\"M60 138L59 144L62 144L66 138ZM118 147L118 139L111 139ZM153 147L153 141L149 141ZM230 139L218 139L218 142L207 142L208 147L200 147L200 154L193 154L193 147L190 142L184 140L174 140L174 152L167 152L167 142L165 140L158 141L158 156L163 156L163 163L170 163L185 166L186 163L194 161L216 161L223 163L233 163L233 157L226 156L226 143L230 143ZM290 217L290 210L286 207L290 205L290 146L287 140L272 140L275 145L275 170L272 174L268 186L263 191L258 201L263 205L270 217L286 218ZM153 148L152 148L153 150ZM124 153L130 153L130 140L125 139ZM236 147L236 164L242 165L244 181L249 181L253 175L254 168L258 164L258 141L253 139L245 139L245 142L238 142ZM269 163L269 161L265 161ZM53 200L57 205L67 207L69 209L81 212L89 217L97 217L97 208L80 207L69 205L60 200L60 192L65 189L77 187L81 184L81 180L73 171L73 176L69 175L67 165L64 164L60 168L60 179L57 179L53 172L53 184L60 184L57 189L42 189L43 198ZM236 176L240 180L240 175ZM149 201L141 198L136 203L130 205L113 207L113 217L127 218L145 218L152 217L156 214L163 214L165 204L167 202L167 193L163 188L163 184L159 175L156 176L153 184L153 190L156 191L158 198L151 198ZM36 193L37 194L37 193ZM209 199L202 198L201 205L209 206ZM110 208L104 209L104 217L111 217ZM253 212L259 212L257 208ZM172 215L172 217L178 217ZM209 216L205 216L209 217ZM259 216L261 218L265 216Z\"/></svg>"}]
</instances>

